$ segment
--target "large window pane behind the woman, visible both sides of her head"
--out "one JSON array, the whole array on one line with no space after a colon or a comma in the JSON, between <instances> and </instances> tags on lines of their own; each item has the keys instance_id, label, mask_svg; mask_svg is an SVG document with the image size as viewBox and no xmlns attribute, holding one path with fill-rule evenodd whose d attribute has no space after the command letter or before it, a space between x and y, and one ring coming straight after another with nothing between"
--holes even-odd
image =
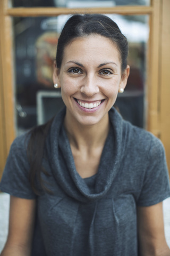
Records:
<instances>
[{"instance_id":1,"label":"large window pane behind the woman, visible both sides of her head","mask_svg":"<svg viewBox=\"0 0 170 256\"><path fill-rule=\"evenodd\" d=\"M118 94L116 106L125 119L143 127L148 17L108 16L129 41L131 74L125 92ZM54 89L52 74L57 38L68 18L69 15L13 18L17 135L46 122L64 106L60 89Z\"/></svg>"}]
</instances>

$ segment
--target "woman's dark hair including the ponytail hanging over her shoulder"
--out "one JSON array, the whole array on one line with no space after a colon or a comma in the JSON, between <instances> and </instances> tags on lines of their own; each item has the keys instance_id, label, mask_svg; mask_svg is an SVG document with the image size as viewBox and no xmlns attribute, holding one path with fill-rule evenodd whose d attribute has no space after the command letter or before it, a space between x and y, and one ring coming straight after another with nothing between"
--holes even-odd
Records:
<instances>
[{"instance_id":1,"label":"woman's dark hair including the ponytail hanging over her shoulder","mask_svg":"<svg viewBox=\"0 0 170 256\"><path fill-rule=\"evenodd\" d=\"M121 33L117 24L110 18L102 14L75 14L67 22L58 38L56 64L61 68L65 46L78 37L89 35L101 35L111 39L117 46L120 53L122 74L127 66L128 42ZM42 162L45 156L45 141L53 119L44 125L35 127L30 132L30 139L27 148L28 161L30 164L30 183L33 191L39 195L39 188L46 189L45 182L41 179L41 172L48 175L43 169Z\"/></svg>"}]
</instances>

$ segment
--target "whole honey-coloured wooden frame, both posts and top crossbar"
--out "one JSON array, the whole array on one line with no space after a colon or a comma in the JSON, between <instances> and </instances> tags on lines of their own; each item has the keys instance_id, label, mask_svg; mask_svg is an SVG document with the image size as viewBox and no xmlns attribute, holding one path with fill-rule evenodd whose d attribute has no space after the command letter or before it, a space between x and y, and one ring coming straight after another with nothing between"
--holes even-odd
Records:
<instances>
[{"instance_id":1,"label":"whole honey-coloured wooden frame, both posts and top crossbar","mask_svg":"<svg viewBox=\"0 0 170 256\"><path fill-rule=\"evenodd\" d=\"M71 13L114 13L150 15L150 39L147 67L147 130L159 137L165 146L170 170L170 72L169 61L169 0L152 0L150 6L115 6L109 8L67 9L57 7L12 8L8 0L0 1L0 178L10 145L15 138L14 70L12 17L38 17Z\"/></svg>"}]
</instances>

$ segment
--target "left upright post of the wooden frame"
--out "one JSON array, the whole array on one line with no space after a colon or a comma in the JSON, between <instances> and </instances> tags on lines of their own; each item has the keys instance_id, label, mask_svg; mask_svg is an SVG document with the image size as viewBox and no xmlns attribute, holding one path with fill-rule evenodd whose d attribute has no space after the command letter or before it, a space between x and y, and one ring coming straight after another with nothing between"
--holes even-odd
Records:
<instances>
[{"instance_id":1,"label":"left upright post of the wooden frame","mask_svg":"<svg viewBox=\"0 0 170 256\"><path fill-rule=\"evenodd\" d=\"M7 1L0 1L0 178L15 138L12 19L5 14L6 10Z\"/></svg>"}]
</instances>

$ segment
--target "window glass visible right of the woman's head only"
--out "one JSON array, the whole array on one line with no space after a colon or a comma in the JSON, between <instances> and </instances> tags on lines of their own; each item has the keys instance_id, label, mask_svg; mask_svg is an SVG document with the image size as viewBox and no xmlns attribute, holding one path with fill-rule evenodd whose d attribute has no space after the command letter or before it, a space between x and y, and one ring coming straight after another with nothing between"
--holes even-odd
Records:
<instances>
[{"instance_id":1,"label":"window glass visible right of the woman's head only","mask_svg":"<svg viewBox=\"0 0 170 256\"><path fill-rule=\"evenodd\" d=\"M146 54L149 38L148 16L114 15L114 21L128 38L130 76L123 94L118 94L116 106L124 119L145 127Z\"/></svg>"}]
</instances>

